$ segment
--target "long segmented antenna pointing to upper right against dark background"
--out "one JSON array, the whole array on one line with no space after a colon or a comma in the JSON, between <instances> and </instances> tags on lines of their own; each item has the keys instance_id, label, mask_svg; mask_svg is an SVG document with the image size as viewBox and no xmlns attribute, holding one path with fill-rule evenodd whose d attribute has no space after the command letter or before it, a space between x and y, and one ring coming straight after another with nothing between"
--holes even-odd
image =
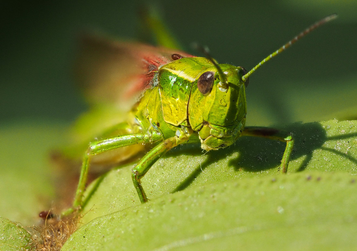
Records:
<instances>
[{"instance_id":1,"label":"long segmented antenna pointing to upper right against dark background","mask_svg":"<svg viewBox=\"0 0 357 251\"><path fill-rule=\"evenodd\" d=\"M310 33L311 31L315 30L317 27L320 27L321 25L325 24L328 21L331 21L337 17L337 14L332 14L330 16L327 16L320 21L317 21L315 24L311 25L308 27L306 30L302 31L299 35L295 36L292 40L287 42L285 45L281 46L279 49L277 49L275 52L267 56L263 61L261 61L259 64L254 66L253 69L251 69L247 74L242 76L242 81L245 82L250 75L252 75L253 72L255 72L260 66L265 64L265 62L269 61L276 55L278 55L280 52L285 51L288 47L290 47L292 44L294 44L297 40L300 40L302 37Z\"/></svg>"}]
</instances>

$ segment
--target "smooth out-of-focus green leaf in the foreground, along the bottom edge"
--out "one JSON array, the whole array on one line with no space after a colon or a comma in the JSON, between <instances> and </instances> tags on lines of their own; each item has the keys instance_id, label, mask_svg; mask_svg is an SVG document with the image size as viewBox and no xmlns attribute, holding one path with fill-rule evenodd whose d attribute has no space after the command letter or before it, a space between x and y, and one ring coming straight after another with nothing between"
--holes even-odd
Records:
<instances>
[{"instance_id":1,"label":"smooth out-of-focus green leaf in the foreground, along the bottom edge","mask_svg":"<svg viewBox=\"0 0 357 251\"><path fill-rule=\"evenodd\" d=\"M96 218L62 250L348 250L352 180L304 172L194 187Z\"/></svg>"}]
</instances>

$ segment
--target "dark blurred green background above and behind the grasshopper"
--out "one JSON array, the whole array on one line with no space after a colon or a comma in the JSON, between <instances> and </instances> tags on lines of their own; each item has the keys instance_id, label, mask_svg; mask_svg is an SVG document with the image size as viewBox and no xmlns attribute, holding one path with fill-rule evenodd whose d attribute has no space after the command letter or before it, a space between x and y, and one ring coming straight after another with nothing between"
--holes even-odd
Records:
<instances>
[{"instance_id":1,"label":"dark blurred green background above and behind the grasshopper","mask_svg":"<svg viewBox=\"0 0 357 251\"><path fill-rule=\"evenodd\" d=\"M153 4L188 52L197 55L190 44L198 42L218 62L247 70L337 12L337 20L251 76L247 124L357 118L356 1L7 1L0 17L0 123L73 121L86 109L72 76L77 35L148 39L138 12Z\"/></svg>"}]
</instances>

